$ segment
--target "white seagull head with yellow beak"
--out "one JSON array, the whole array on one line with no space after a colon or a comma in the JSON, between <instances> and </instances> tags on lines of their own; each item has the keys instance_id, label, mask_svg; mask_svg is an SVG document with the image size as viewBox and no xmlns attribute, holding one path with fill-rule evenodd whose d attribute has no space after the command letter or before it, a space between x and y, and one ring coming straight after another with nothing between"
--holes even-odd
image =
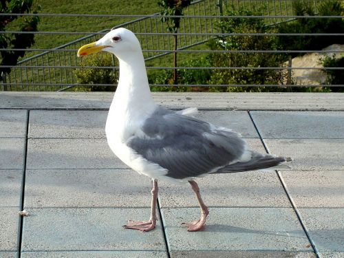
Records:
<instances>
[{"instance_id":1,"label":"white seagull head with yellow beak","mask_svg":"<svg viewBox=\"0 0 344 258\"><path fill-rule=\"evenodd\" d=\"M78 50L78 56L87 56L100 51L110 52L118 58L128 56L129 53L142 53L138 38L125 28L111 30L98 41L83 45Z\"/></svg>"}]
</instances>

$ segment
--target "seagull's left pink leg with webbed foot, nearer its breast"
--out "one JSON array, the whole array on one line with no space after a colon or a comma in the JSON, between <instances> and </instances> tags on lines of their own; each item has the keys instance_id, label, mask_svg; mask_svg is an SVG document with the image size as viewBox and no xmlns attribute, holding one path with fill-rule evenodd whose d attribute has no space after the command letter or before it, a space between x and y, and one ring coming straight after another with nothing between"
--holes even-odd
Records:
<instances>
[{"instance_id":1,"label":"seagull's left pink leg with webbed foot, nearer its breast","mask_svg":"<svg viewBox=\"0 0 344 258\"><path fill-rule=\"evenodd\" d=\"M158 181L153 179L151 189L151 217L148 222L138 222L135 220L129 220L128 224L123 228L137 229L143 232L147 232L155 228L156 224L156 199L158 198Z\"/></svg>"}]
</instances>

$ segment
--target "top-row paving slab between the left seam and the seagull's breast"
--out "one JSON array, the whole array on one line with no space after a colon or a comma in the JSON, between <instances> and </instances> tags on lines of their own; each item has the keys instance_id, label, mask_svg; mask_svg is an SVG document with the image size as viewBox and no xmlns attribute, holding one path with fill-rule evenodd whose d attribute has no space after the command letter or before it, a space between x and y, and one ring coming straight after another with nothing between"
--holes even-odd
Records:
<instances>
[{"instance_id":1,"label":"top-row paving slab between the left seam and the seagull's breast","mask_svg":"<svg viewBox=\"0 0 344 258\"><path fill-rule=\"evenodd\" d=\"M105 138L107 111L32 110L30 138Z\"/></svg>"}]
</instances>

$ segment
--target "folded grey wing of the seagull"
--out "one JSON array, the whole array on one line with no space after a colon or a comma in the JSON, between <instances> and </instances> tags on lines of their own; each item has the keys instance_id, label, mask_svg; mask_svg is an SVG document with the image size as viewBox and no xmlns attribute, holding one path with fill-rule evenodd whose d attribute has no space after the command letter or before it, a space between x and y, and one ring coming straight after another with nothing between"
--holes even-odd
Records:
<instances>
[{"instance_id":1,"label":"folded grey wing of the seagull","mask_svg":"<svg viewBox=\"0 0 344 258\"><path fill-rule=\"evenodd\" d=\"M233 131L159 108L127 145L176 179L197 177L239 160L246 142Z\"/></svg>"}]
</instances>

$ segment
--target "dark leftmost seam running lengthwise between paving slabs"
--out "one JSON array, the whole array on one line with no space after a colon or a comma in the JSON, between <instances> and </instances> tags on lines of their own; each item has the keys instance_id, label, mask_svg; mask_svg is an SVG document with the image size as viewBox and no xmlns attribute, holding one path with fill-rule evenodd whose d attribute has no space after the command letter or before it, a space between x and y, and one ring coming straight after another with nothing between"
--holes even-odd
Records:
<instances>
[{"instance_id":1,"label":"dark leftmost seam running lengthwise between paving slabs","mask_svg":"<svg viewBox=\"0 0 344 258\"><path fill-rule=\"evenodd\" d=\"M28 155L28 134L29 134L29 120L30 120L30 111L26 113L26 128L25 128L25 146L23 154L23 178L21 181L21 206L20 211L23 211L24 208L24 197L25 197L25 175L26 175L26 159ZM21 257L21 242L23 238L23 222L24 217L19 217L19 236L18 236L18 257Z\"/></svg>"}]
</instances>

